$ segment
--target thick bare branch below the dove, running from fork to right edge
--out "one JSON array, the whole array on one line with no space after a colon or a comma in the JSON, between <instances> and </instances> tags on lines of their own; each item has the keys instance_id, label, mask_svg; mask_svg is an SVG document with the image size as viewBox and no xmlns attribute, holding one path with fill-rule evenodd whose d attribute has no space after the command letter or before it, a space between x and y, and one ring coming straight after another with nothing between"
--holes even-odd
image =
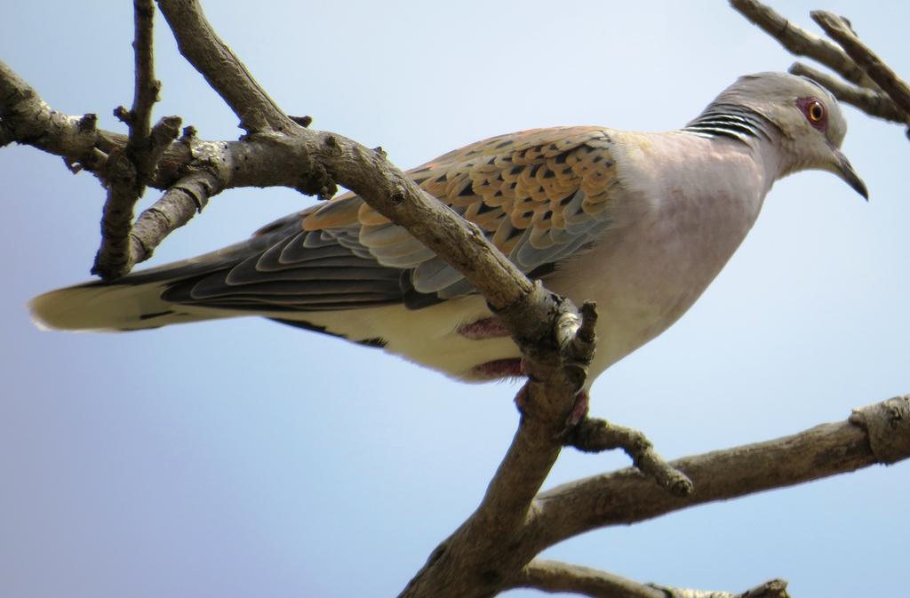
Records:
<instances>
[{"instance_id":1,"label":"thick bare branch below the dove, running from fork to right edge","mask_svg":"<svg viewBox=\"0 0 910 598\"><path fill-rule=\"evenodd\" d=\"M705 502L783 488L910 457L910 395L854 410L849 421L792 436L685 457L671 465L692 479L681 498L653 492L652 481L626 469L563 484L536 501L529 535L536 552L583 532L642 522ZM535 552L535 553L536 553Z\"/></svg>"}]
</instances>

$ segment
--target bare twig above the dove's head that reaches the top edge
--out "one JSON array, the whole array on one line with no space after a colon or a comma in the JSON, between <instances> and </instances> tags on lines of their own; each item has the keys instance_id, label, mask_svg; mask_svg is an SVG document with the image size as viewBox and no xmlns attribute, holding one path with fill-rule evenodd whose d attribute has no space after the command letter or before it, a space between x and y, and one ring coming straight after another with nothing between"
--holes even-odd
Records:
<instances>
[{"instance_id":1,"label":"bare twig above the dove's head that reaches the top edge","mask_svg":"<svg viewBox=\"0 0 910 598\"><path fill-rule=\"evenodd\" d=\"M794 55L813 58L855 85L876 88L875 82L844 54L844 50L788 21L770 6L757 0L730 0L730 5Z\"/></svg>"}]
</instances>

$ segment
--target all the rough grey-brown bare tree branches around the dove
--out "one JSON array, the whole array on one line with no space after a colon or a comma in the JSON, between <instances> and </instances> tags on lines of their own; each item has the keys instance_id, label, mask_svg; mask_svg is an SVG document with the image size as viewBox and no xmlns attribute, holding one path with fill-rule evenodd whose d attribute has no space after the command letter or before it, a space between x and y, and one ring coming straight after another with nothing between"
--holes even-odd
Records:
<instances>
[{"instance_id":1,"label":"all the rough grey-brown bare tree branches around the dove","mask_svg":"<svg viewBox=\"0 0 910 598\"><path fill-rule=\"evenodd\" d=\"M816 57L858 86L807 66L794 66L794 72L813 73L836 96L872 116L910 123L908 87L858 42L840 17L814 14L840 45L835 46L787 25L783 17L753 0L731 4L787 48ZM856 410L848 421L669 464L640 432L605 421L586 419L569 437L561 436L584 380L583 365L596 342L595 306L576 310L527 279L477 228L426 196L391 165L381 148L311 130L308 117L284 114L212 31L196 0L157 0L157 8L180 52L237 114L246 134L238 141L206 141L187 128L177 139L177 117L151 126L158 89L151 39L155 6L150 0L135 0L134 5L134 104L117 111L129 127L128 136L98 129L93 115L56 112L0 62L0 145L17 142L64 157L74 171L92 172L106 184L97 274L107 279L122 276L227 188L284 186L329 198L340 184L460 269L501 314L530 364L531 380L522 392L528 393L531 400L526 404L532 407L521 417L486 495L430 554L402 596L490 596L517 587L602 597L784 596L786 583L780 580L745 593L705 593L636 583L535 557L593 529L910 456L910 395ZM146 187L163 194L134 222L136 199ZM623 448L637 467L541 493L566 443L584 451Z\"/></svg>"}]
</instances>

